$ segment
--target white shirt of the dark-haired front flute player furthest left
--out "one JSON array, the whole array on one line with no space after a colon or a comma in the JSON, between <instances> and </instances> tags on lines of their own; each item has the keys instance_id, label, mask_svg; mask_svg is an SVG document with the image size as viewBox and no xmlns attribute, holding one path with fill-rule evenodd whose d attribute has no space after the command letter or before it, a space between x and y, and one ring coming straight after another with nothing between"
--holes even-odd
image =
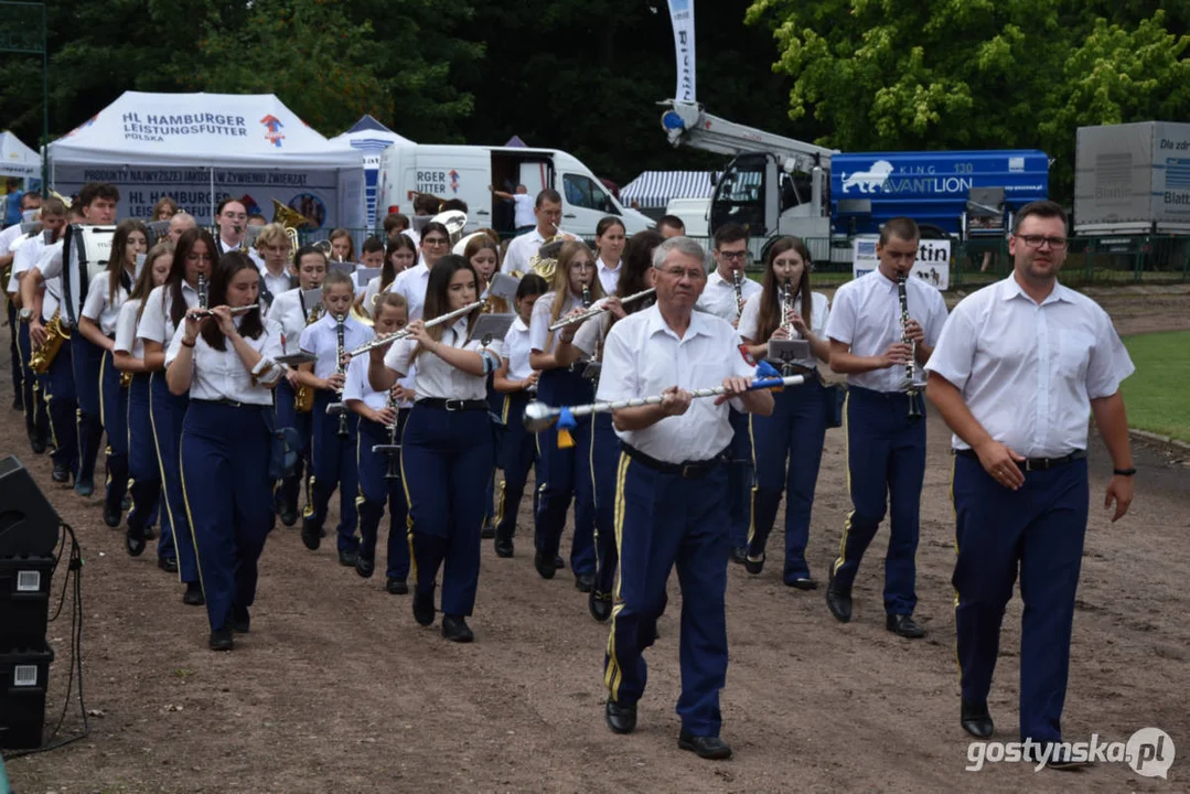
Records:
<instances>
[{"instance_id":1,"label":"white shirt of the dark-haired front flute player furthest left","mask_svg":"<svg viewBox=\"0 0 1190 794\"><path fill-rule=\"evenodd\" d=\"M236 327L239 327L243 324L243 318L234 318L234 323ZM174 332L174 338L165 351L167 368L177 358L177 354L182 349L183 336L186 336L184 327L178 327ZM275 360L281 355L281 339L276 335L269 333L268 329L264 329L257 338L245 337L244 340L267 360ZM225 340L225 346L226 350L215 350L207 344L202 335L199 335L193 350L194 377L190 381L190 399L234 400L249 405L271 406L273 389L264 382L253 383L251 373L244 367L239 354L236 352L236 346L230 340ZM283 371L283 367L274 364L263 376L268 383L275 383Z\"/></svg>"}]
</instances>

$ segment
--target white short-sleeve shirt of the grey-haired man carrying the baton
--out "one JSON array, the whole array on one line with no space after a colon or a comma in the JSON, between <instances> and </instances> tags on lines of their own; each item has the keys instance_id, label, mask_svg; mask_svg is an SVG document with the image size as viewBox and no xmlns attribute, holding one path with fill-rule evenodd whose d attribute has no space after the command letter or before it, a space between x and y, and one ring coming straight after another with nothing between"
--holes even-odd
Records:
<instances>
[{"instance_id":1,"label":"white short-sleeve shirt of the grey-haired man carrying the baton","mask_svg":"<svg viewBox=\"0 0 1190 794\"><path fill-rule=\"evenodd\" d=\"M752 379L756 370L739 351L739 336L729 323L704 312L693 312L690 327L679 339L652 306L612 326L603 344L603 371L599 401L627 400L660 394L671 386L712 388L725 377ZM714 398L693 400L682 415L666 417L645 430L616 430L626 444L668 463L708 461L731 444L729 404Z\"/></svg>"}]
</instances>

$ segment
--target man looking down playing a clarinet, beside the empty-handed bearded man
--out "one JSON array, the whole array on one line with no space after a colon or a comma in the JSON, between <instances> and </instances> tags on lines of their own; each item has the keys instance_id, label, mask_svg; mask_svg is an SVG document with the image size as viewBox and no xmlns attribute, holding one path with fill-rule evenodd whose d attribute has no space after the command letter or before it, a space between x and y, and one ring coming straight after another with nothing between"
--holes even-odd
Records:
<instances>
[{"instance_id":1,"label":"man looking down playing a clarinet, beside the empty-handed bearded man","mask_svg":"<svg viewBox=\"0 0 1190 794\"><path fill-rule=\"evenodd\" d=\"M879 265L839 287L826 325L831 369L847 375L845 431L852 505L839 557L831 567L827 607L840 623L851 620L851 586L887 509L884 626L908 639L926 636L913 619L926 420L921 394L903 390L906 364L914 350L916 365L926 363L946 321L941 293L910 275L920 237L909 218L884 224L876 244ZM908 320L902 318L900 277L906 279ZM916 344L906 344L903 337ZM916 411L910 409L910 401Z\"/></svg>"}]
</instances>

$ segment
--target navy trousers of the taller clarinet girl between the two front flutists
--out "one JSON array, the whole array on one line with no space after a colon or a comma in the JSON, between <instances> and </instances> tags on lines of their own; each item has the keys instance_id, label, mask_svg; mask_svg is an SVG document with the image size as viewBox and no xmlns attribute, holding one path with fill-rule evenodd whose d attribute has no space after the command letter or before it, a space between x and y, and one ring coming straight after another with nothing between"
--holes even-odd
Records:
<instances>
[{"instance_id":1,"label":"navy trousers of the taller clarinet girl between the two front flutists","mask_svg":"<svg viewBox=\"0 0 1190 794\"><path fill-rule=\"evenodd\" d=\"M338 401L334 392L318 389L314 392L314 411L311 433L311 458L313 459L309 505L302 513L302 524L317 527L319 531L326 523L326 511L334 490L339 490L339 551L356 551L359 538L356 526L359 514L356 512L356 495L359 492L359 471L356 468L356 433L359 417L347 412L347 434L339 437L339 417L326 413L326 407Z\"/></svg>"}]
</instances>

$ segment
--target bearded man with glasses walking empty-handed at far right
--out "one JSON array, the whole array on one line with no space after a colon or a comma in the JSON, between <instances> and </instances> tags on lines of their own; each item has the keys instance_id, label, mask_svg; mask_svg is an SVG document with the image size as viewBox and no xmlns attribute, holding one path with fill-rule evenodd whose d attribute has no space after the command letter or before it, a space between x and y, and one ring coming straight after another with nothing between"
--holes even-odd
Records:
<instances>
[{"instance_id":1,"label":"bearded man with glasses walking empty-handed at far right","mask_svg":"<svg viewBox=\"0 0 1190 794\"><path fill-rule=\"evenodd\" d=\"M1022 207L1008 243L1013 275L954 308L926 365L927 396L954 431L960 724L978 738L992 733L988 692L1019 569L1020 736L1038 745L1034 761L1052 767L1075 765L1057 743L1090 501L1091 414L1115 468L1104 500L1113 521L1132 504L1136 473L1120 395L1134 367L1107 313L1058 283L1066 246L1060 206Z\"/></svg>"}]
</instances>

